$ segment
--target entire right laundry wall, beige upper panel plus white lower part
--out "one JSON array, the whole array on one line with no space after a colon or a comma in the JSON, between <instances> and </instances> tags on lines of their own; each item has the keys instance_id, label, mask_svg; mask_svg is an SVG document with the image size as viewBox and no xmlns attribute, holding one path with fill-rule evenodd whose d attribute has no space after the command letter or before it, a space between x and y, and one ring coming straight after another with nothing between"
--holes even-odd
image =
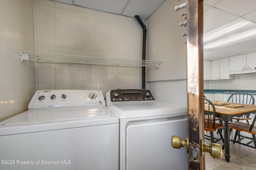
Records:
<instances>
[{"instance_id":1,"label":"entire right laundry wall, beige upper panel plus white lower part","mask_svg":"<svg viewBox=\"0 0 256 170\"><path fill-rule=\"evenodd\" d=\"M166 0L148 18L147 59L163 61L160 68L147 68L147 86L157 100L187 106L186 92L186 27L179 23L185 21L175 11L177 5L185 0Z\"/></svg>"}]
</instances>

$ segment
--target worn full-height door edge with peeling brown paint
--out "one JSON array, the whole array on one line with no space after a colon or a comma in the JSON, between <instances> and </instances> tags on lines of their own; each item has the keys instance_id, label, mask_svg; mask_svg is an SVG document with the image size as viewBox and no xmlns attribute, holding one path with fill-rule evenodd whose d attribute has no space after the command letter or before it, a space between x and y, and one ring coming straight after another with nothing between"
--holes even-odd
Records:
<instances>
[{"instance_id":1,"label":"worn full-height door edge with peeling brown paint","mask_svg":"<svg viewBox=\"0 0 256 170\"><path fill-rule=\"evenodd\" d=\"M188 138L190 145L200 146L200 140L204 139L203 0L187 0L186 4ZM189 154L189 167L190 170L205 169L204 156L200 154L198 163L191 161Z\"/></svg>"}]
</instances>

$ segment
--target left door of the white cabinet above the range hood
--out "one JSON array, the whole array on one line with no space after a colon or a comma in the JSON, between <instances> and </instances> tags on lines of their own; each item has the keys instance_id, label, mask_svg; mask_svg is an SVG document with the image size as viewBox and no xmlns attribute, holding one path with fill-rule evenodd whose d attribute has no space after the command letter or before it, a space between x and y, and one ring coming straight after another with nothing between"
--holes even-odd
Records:
<instances>
[{"instance_id":1,"label":"left door of the white cabinet above the range hood","mask_svg":"<svg viewBox=\"0 0 256 170\"><path fill-rule=\"evenodd\" d=\"M246 68L246 54L229 57L229 69L236 70Z\"/></svg>"}]
</instances>

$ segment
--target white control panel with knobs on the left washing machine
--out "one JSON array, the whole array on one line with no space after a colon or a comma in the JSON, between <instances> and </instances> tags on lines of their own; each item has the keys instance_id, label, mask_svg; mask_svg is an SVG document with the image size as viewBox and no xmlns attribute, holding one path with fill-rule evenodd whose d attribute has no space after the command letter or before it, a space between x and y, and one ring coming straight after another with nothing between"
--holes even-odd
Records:
<instances>
[{"instance_id":1,"label":"white control panel with knobs on the left washing machine","mask_svg":"<svg viewBox=\"0 0 256 170\"><path fill-rule=\"evenodd\" d=\"M106 106L100 90L38 90L28 109Z\"/></svg>"}]
</instances>

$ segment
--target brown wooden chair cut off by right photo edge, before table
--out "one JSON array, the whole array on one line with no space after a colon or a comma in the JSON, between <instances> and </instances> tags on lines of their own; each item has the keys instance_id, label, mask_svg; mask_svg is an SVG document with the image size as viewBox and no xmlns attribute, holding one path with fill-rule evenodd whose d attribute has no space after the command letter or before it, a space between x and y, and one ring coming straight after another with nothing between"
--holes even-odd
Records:
<instances>
[{"instance_id":1,"label":"brown wooden chair cut off by right photo edge, before table","mask_svg":"<svg viewBox=\"0 0 256 170\"><path fill-rule=\"evenodd\" d=\"M238 132L244 131L246 133L252 134L252 138L249 138L249 137L244 137L244 138L251 139L254 142L254 147L252 147L252 148L256 149L256 137L255 137L256 127L254 126L255 121L256 121L256 116L254 117L254 119L252 121L252 124L248 124L248 123L245 123L245 122L242 122L242 121L230 122L229 127L232 128L232 129L236 129L236 133L235 133L235 136L234 136L233 143L239 143L239 144L242 144L242 145L245 145L245 146L248 146L248 147L252 147L252 146L249 145L251 143L251 141L245 144L245 143L241 143L241 141L239 141L239 140L236 140L236 138L238 136Z\"/></svg>"}]
</instances>

